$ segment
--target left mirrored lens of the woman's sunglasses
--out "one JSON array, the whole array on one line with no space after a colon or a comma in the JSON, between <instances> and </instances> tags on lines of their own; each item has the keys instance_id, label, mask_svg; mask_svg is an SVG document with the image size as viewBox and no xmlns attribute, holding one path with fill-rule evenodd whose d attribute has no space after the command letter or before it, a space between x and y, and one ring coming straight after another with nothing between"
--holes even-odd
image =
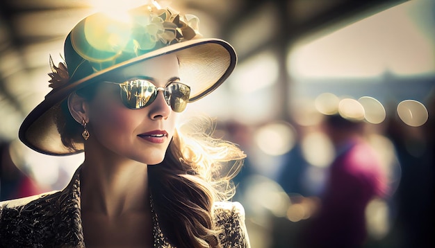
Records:
<instances>
[{"instance_id":1,"label":"left mirrored lens of the woman's sunglasses","mask_svg":"<svg viewBox=\"0 0 435 248\"><path fill-rule=\"evenodd\" d=\"M122 101L130 109L146 107L156 98L156 87L147 80L130 80L121 89Z\"/></svg>"}]
</instances>

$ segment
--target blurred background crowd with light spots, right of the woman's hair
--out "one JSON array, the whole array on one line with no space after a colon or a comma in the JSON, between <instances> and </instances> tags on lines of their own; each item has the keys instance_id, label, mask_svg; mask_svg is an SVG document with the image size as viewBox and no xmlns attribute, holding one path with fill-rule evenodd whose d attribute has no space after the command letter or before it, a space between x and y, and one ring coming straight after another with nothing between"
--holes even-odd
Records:
<instances>
[{"instance_id":1,"label":"blurred background crowd with light spots, right of the woman's hair","mask_svg":"<svg viewBox=\"0 0 435 248\"><path fill-rule=\"evenodd\" d=\"M337 114L313 126L289 122L292 148L268 163L252 148L253 127L227 125L248 153L235 198L253 247L433 247L434 100L428 105L418 127L397 114L378 124Z\"/></svg>"}]
</instances>

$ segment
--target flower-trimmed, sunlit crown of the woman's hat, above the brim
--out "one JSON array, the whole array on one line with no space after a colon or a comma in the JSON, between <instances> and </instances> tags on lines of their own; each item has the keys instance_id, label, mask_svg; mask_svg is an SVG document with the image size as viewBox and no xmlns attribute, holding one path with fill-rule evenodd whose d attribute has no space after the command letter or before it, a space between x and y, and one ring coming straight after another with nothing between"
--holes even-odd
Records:
<instances>
[{"instance_id":1,"label":"flower-trimmed, sunlit crown of the woman's hat, above the brim","mask_svg":"<svg viewBox=\"0 0 435 248\"><path fill-rule=\"evenodd\" d=\"M71 42L94 71L101 71L158 48L201 37L198 23L194 15L147 5L130 10L126 16L91 15L72 30Z\"/></svg>"}]
</instances>

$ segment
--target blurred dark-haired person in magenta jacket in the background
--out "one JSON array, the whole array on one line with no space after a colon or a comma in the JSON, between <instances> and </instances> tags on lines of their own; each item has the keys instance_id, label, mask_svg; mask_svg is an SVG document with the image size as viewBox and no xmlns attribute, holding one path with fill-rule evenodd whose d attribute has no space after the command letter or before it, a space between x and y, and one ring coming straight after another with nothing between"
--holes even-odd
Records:
<instances>
[{"instance_id":1,"label":"blurred dark-haired person in magenta jacket in the background","mask_svg":"<svg viewBox=\"0 0 435 248\"><path fill-rule=\"evenodd\" d=\"M388 182L377 153L364 139L363 121L326 116L325 133L336 157L320 195L320 209L303 234L305 247L363 247L367 238L366 206L384 197Z\"/></svg>"}]
</instances>

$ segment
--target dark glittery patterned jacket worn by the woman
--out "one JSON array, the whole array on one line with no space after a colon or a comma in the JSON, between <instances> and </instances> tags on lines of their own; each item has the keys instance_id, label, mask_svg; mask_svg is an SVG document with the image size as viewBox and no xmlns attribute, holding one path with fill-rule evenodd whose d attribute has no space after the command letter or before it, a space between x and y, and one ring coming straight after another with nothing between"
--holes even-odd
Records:
<instances>
[{"instance_id":1,"label":"dark glittery patterned jacket worn by the woman","mask_svg":"<svg viewBox=\"0 0 435 248\"><path fill-rule=\"evenodd\" d=\"M249 247L243 206L216 202L214 209L222 247ZM154 247L174 247L153 215ZM63 191L0 202L0 247L85 247L79 172Z\"/></svg>"}]
</instances>

